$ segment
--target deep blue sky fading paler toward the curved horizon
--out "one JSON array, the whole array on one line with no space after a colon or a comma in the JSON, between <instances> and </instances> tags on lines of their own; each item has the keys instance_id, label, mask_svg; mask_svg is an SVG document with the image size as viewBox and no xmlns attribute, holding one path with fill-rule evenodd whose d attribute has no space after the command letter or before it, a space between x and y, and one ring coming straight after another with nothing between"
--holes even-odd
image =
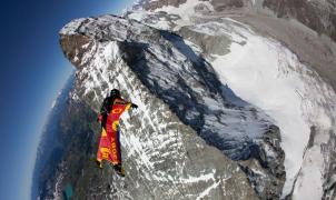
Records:
<instances>
[{"instance_id":1,"label":"deep blue sky fading paler toward the curved horizon","mask_svg":"<svg viewBox=\"0 0 336 200\"><path fill-rule=\"evenodd\" d=\"M0 6L0 197L30 198L36 149L73 68L58 31L71 19L120 13L134 0L8 0Z\"/></svg>"}]
</instances>

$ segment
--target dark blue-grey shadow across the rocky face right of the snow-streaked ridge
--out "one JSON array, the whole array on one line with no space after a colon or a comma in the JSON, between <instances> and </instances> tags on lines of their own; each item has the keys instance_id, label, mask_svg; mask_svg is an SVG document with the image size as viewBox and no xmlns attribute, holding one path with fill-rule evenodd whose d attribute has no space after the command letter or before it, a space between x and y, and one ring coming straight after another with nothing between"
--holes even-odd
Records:
<instances>
[{"instance_id":1,"label":"dark blue-grey shadow across the rocky face right of the snow-streaked ridge","mask_svg":"<svg viewBox=\"0 0 336 200\"><path fill-rule=\"evenodd\" d=\"M197 79L205 88L207 94L210 98L216 99L221 102L221 106L225 108L246 109L250 107L249 103L238 98L233 90L227 86L224 86L211 66L194 50L185 43L184 39L178 34L160 30L162 39L167 40L171 47L165 49L167 51L167 57L172 57L172 48L179 50L187 60L186 62L191 62L194 78ZM161 41L157 41L160 43ZM161 48L165 44L161 44ZM166 44L167 46L167 44ZM248 138L235 138L229 134L223 137L218 134L216 129L211 127L206 127L205 120L206 114L215 114L218 119L223 118L226 113L223 110L210 109L206 104L199 94L195 92L195 88L190 86L190 82L179 73L175 71L167 71L166 69L171 69L171 66L165 60L160 59L156 53L154 53L147 43L140 43L137 41L123 41L119 43L121 51L123 52L123 60L128 66L135 71L140 79L140 81L158 98L160 98L165 103L167 103L170 109L178 116L178 118L185 123L195 129L198 134L210 146L218 148L224 151L233 160L246 160L254 157L256 153L255 142ZM150 57L150 58L149 58ZM155 62L148 63L148 62ZM177 80L176 84L165 84L161 77L154 74L154 69L156 66L159 68L162 66L160 71L161 76L172 76ZM251 110L253 112L254 110ZM256 111L256 110L255 110ZM219 120L218 120L219 121ZM225 124L221 124L225 126ZM268 124L265 124L267 129ZM243 140L243 141L241 141Z\"/></svg>"}]
</instances>

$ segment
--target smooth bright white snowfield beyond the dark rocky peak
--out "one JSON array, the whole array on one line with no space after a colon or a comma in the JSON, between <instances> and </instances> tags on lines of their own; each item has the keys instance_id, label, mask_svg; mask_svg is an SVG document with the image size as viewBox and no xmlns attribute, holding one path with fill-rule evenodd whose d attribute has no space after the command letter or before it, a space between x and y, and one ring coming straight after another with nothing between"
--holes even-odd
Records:
<instances>
[{"instance_id":1,"label":"smooth bright white snowfield beyond the dark rocky peak","mask_svg":"<svg viewBox=\"0 0 336 200\"><path fill-rule=\"evenodd\" d=\"M303 168L305 177L298 180L299 188L296 188L294 198L320 199L324 166L319 144L327 141L328 133L317 147L306 152L305 158L314 160L313 163L303 166L303 158L310 127L324 130L332 128L336 99L333 89L287 48L257 36L239 22L228 20L225 26L209 22L201 27L215 29L218 34L231 30L235 32L233 38L240 36L239 41L244 41L244 44L233 42L230 53L215 56L211 64L224 84L228 84L238 97L263 109L280 128L281 147L286 153L283 197L291 191L296 176Z\"/></svg>"}]
</instances>

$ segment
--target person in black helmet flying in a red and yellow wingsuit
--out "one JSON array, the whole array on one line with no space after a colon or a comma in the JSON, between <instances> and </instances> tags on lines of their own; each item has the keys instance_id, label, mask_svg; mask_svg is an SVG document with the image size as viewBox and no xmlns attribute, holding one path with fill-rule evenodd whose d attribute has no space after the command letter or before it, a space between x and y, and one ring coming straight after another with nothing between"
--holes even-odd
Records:
<instances>
[{"instance_id":1,"label":"person in black helmet flying in a red and yellow wingsuit","mask_svg":"<svg viewBox=\"0 0 336 200\"><path fill-rule=\"evenodd\" d=\"M97 163L102 168L102 160L109 161L116 172L122 177L125 176L125 170L121 164L119 118L122 112L130 108L137 109L138 106L123 100L120 91L113 89L110 91L110 96L103 100L98 116L98 121L101 123L101 136L97 152Z\"/></svg>"}]
</instances>

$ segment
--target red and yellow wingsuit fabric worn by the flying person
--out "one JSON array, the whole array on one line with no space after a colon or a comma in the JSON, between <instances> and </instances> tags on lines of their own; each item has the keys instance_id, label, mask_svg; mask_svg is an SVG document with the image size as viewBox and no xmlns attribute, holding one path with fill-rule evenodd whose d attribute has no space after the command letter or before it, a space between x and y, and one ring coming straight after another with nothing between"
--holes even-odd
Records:
<instances>
[{"instance_id":1,"label":"red and yellow wingsuit fabric worn by the flying person","mask_svg":"<svg viewBox=\"0 0 336 200\"><path fill-rule=\"evenodd\" d=\"M121 163L120 133L118 128L119 118L131 104L131 102L126 102L123 99L117 98L108 113L106 126L101 129L97 152L97 161L100 162L100 168L102 168L102 160L108 160L113 166Z\"/></svg>"}]
</instances>

